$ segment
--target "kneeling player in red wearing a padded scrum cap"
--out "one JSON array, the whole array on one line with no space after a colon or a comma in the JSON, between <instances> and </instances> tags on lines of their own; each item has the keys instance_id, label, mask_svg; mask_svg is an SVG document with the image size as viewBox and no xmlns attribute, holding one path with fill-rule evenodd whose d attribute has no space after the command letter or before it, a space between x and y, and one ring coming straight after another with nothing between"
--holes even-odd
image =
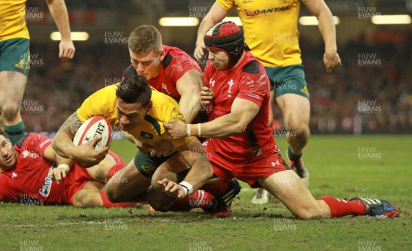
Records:
<instances>
[{"instance_id":1,"label":"kneeling player in red wearing a padded scrum cap","mask_svg":"<svg viewBox=\"0 0 412 251\"><path fill-rule=\"evenodd\" d=\"M236 177L251 187L263 187L281 200L297 217L340 217L385 215L399 217L400 211L386 200L323 196L315 200L306 184L279 154L269 125L269 80L264 67L247 50L242 30L231 22L220 22L205 35L209 61L203 73L201 95L213 106L207 123L185 124L176 119L163 123L174 138L196 135L205 141L214 174L220 180ZM176 187L170 180L163 187ZM168 193L167 190L165 190ZM220 215L229 216L231 204L220 205Z\"/></svg>"}]
</instances>

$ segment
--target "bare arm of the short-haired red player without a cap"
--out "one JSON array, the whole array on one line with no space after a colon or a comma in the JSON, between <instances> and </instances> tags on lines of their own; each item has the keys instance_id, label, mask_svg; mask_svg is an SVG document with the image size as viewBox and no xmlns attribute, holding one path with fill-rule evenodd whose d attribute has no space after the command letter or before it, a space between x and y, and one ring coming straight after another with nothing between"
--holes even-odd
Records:
<instances>
[{"instance_id":1,"label":"bare arm of the short-haired red player without a cap","mask_svg":"<svg viewBox=\"0 0 412 251\"><path fill-rule=\"evenodd\" d=\"M179 110L188 123L192 122L201 108L202 74L196 70L187 71L176 82L181 99Z\"/></svg>"}]
</instances>

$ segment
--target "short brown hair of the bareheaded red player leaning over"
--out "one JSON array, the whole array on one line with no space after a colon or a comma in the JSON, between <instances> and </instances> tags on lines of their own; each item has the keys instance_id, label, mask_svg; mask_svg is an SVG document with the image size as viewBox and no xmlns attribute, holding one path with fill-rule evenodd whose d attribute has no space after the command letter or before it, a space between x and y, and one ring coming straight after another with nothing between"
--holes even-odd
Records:
<instances>
[{"instance_id":1,"label":"short brown hair of the bareheaded red player leaning over","mask_svg":"<svg viewBox=\"0 0 412 251\"><path fill-rule=\"evenodd\" d=\"M155 51L159 53L162 49L161 34L153 25L141 25L137 27L128 38L130 51L137 54Z\"/></svg>"}]
</instances>

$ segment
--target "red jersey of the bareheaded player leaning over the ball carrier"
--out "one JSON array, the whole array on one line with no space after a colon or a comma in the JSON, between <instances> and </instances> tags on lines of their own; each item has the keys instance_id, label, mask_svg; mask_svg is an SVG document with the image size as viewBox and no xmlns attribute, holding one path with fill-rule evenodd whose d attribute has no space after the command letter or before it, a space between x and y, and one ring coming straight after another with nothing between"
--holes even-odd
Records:
<instances>
[{"instance_id":1,"label":"red jersey of the bareheaded player leaning over the ball carrier","mask_svg":"<svg viewBox=\"0 0 412 251\"><path fill-rule=\"evenodd\" d=\"M202 73L201 67L198 66L197 62L190 58L185 51L179 48L163 45L165 50L165 58L163 59L163 64L159 74L148 80L150 86L155 88L161 93L165 93L170 97L179 101L181 95L176 89L176 82L190 70L196 70ZM137 75L137 72L132 64L123 72L123 77L128 75Z\"/></svg>"}]
</instances>

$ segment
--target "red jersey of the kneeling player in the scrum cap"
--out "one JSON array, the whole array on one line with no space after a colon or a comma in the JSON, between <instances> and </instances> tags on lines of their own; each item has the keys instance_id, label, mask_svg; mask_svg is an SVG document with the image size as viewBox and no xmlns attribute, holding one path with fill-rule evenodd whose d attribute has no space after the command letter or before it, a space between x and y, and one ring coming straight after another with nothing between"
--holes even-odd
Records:
<instances>
[{"instance_id":1,"label":"red jersey of the kneeling player in the scrum cap","mask_svg":"<svg viewBox=\"0 0 412 251\"><path fill-rule=\"evenodd\" d=\"M225 138L209 139L208 149L231 159L253 158L279 151L268 123L269 80L264 67L252 53L246 51L242 62L229 71L218 71L211 62L207 62L203 82L215 95L211 119L229 114L233 100L237 97L253 101L260 107L244 132Z\"/></svg>"}]
</instances>

